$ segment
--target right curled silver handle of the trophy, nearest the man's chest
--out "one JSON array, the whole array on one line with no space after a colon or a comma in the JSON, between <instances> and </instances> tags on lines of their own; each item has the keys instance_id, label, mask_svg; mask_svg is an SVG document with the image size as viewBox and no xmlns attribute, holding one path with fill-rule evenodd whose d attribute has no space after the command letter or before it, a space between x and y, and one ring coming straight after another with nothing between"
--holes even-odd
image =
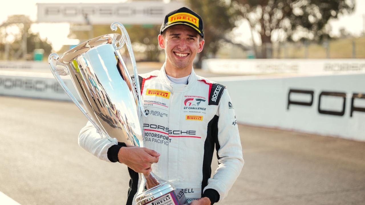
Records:
<instances>
[{"instance_id":1,"label":"right curled silver handle of the trophy, nearest the man's chest","mask_svg":"<svg viewBox=\"0 0 365 205\"><path fill-rule=\"evenodd\" d=\"M126 28L124 28L123 24L121 24L119 22L114 22L110 25L110 29L112 31L116 31L118 28L120 29L120 31L122 31L122 38L118 41L119 46L116 46L116 44L115 44L116 39L113 39L113 46L114 46L115 49L119 50L124 45L124 43L126 43L128 53L130 55L132 66L133 66L134 77L137 79L135 81L136 86L137 86L137 96L141 96L141 97L138 97L138 107L141 111L141 114L143 116L147 117L146 113L145 113L145 108L143 108L143 106L142 106L143 105L142 104L142 94L141 94L141 89L139 87L137 65L136 65L136 60L134 58L134 53L133 53L133 50L132 50L131 39L129 38L127 30L126 30Z\"/></svg>"}]
</instances>

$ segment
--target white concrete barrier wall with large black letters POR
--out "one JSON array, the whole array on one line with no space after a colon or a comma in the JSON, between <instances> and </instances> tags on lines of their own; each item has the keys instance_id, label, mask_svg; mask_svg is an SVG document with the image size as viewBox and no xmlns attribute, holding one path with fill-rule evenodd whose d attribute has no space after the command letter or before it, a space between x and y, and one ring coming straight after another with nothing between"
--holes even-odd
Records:
<instances>
[{"instance_id":1,"label":"white concrete barrier wall with large black letters POR","mask_svg":"<svg viewBox=\"0 0 365 205\"><path fill-rule=\"evenodd\" d=\"M227 86L238 123L365 141L365 74L212 80Z\"/></svg>"}]
</instances>

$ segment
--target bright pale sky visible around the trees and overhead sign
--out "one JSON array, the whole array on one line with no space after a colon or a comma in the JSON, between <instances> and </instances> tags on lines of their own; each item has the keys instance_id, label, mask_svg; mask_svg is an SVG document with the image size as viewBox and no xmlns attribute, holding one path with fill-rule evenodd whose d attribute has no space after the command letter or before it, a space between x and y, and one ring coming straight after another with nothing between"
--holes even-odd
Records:
<instances>
[{"instance_id":1,"label":"bright pale sky visible around the trees and overhead sign","mask_svg":"<svg viewBox=\"0 0 365 205\"><path fill-rule=\"evenodd\" d=\"M127 0L62 0L53 3L123 3ZM169 2L169 0L164 0ZM49 3L49 0L16 0L5 1L5 6L0 7L0 24L7 19L9 15L23 14L30 17L34 22L37 21L37 3ZM330 20L329 24L332 28L330 35L338 36L339 29L345 28L347 32L354 36L359 36L365 31L365 1L356 0L356 9L351 15L342 15L338 19ZM162 22L162 19L161 19ZM32 32L39 32L41 38L47 38L52 43L55 51L61 49L62 45L78 44L78 40L69 39L68 23L35 23L31 27ZM235 42L251 44L251 34L247 23L242 23L234 30ZM258 39L255 39L256 41Z\"/></svg>"}]
</instances>

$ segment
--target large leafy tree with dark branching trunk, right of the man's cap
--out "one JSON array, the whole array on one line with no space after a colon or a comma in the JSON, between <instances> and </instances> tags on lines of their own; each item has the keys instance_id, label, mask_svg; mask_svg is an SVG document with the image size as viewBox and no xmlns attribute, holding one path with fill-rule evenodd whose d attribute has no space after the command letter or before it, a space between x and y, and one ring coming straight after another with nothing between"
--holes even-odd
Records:
<instances>
[{"instance_id":1,"label":"large leafy tree with dark branching trunk, right of the man's cap","mask_svg":"<svg viewBox=\"0 0 365 205\"><path fill-rule=\"evenodd\" d=\"M273 34L282 35L277 41L292 40L294 35L321 40L328 36L328 20L351 13L355 0L231 0L231 4L249 22L251 31L260 34L261 57L266 58Z\"/></svg>"}]
</instances>

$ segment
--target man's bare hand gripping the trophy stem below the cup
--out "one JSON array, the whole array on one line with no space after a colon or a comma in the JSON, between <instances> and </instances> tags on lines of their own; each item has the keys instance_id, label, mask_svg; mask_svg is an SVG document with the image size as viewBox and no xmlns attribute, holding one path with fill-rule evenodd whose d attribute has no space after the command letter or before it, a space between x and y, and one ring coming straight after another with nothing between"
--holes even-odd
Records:
<instances>
[{"instance_id":1,"label":"man's bare hand gripping the trophy stem below the cup","mask_svg":"<svg viewBox=\"0 0 365 205\"><path fill-rule=\"evenodd\" d=\"M127 165L137 173L149 174L151 165L158 162L160 154L145 147L122 147L118 152L120 163Z\"/></svg>"}]
</instances>

